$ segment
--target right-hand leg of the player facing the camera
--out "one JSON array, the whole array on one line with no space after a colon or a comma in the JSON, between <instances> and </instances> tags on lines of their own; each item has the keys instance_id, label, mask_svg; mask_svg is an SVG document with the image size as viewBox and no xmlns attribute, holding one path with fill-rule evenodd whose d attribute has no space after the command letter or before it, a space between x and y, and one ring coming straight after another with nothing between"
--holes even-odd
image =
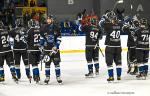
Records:
<instances>
[{"instance_id":1,"label":"right-hand leg of the player facing the camera","mask_svg":"<svg viewBox=\"0 0 150 96\"><path fill-rule=\"evenodd\" d=\"M56 79L58 83L62 83L61 80L61 69L60 69L60 52L58 51L53 58L53 62L55 65L55 74L56 74Z\"/></svg>"}]
</instances>

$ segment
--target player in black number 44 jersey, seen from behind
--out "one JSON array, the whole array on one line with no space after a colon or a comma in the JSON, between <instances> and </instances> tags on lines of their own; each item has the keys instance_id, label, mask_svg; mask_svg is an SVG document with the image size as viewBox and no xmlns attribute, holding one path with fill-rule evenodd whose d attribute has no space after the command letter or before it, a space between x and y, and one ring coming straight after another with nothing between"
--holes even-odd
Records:
<instances>
[{"instance_id":1,"label":"player in black number 44 jersey, seen from behind","mask_svg":"<svg viewBox=\"0 0 150 96\"><path fill-rule=\"evenodd\" d=\"M27 78L31 80L30 67L28 64L27 44L25 41L26 29L23 28L23 22L21 21L21 19L17 19L15 23L16 23L16 28L11 30L11 34L12 37L14 38L13 52L14 52L14 59L15 59L16 74L18 79L20 79L21 78L20 62L22 56Z\"/></svg>"}]
</instances>

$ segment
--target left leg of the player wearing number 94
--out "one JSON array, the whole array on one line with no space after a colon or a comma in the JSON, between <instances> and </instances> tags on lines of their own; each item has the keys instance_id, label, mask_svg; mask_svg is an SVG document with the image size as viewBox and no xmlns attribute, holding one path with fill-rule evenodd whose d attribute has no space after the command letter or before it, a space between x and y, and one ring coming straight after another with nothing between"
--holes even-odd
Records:
<instances>
[{"instance_id":1,"label":"left leg of the player wearing number 94","mask_svg":"<svg viewBox=\"0 0 150 96\"><path fill-rule=\"evenodd\" d=\"M86 77L93 77L93 63L92 63L92 55L93 55L93 49L90 47L86 47L85 55L86 55L86 61L88 65L88 73L85 74Z\"/></svg>"}]
</instances>

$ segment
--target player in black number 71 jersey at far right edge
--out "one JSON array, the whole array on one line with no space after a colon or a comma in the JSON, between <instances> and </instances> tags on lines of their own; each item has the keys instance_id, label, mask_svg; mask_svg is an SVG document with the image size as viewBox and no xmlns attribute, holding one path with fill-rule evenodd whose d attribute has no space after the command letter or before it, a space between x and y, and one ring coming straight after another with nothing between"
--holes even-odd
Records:
<instances>
[{"instance_id":1,"label":"player in black number 71 jersey at far right edge","mask_svg":"<svg viewBox=\"0 0 150 96\"><path fill-rule=\"evenodd\" d=\"M148 73L148 59L149 59L149 34L150 29L147 20L142 18L140 20L140 27L135 32L136 36L136 58L139 69L138 79L145 79Z\"/></svg>"}]
</instances>

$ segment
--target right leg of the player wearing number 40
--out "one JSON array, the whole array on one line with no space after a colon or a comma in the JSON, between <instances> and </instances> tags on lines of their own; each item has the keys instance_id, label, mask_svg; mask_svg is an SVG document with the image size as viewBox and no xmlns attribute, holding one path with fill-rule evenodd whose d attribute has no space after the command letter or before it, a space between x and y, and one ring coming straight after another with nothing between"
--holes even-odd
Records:
<instances>
[{"instance_id":1,"label":"right leg of the player wearing number 40","mask_svg":"<svg viewBox=\"0 0 150 96\"><path fill-rule=\"evenodd\" d=\"M121 47L116 48L114 55L114 62L116 64L117 80L121 80L122 62L121 62Z\"/></svg>"}]
</instances>

